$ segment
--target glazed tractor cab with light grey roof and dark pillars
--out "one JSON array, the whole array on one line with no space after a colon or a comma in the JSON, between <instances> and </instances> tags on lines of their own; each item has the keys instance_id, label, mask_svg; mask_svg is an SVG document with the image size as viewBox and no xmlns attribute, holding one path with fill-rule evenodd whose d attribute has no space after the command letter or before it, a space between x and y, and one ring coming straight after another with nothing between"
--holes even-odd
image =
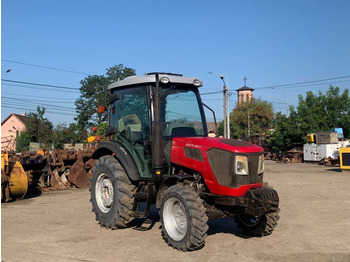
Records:
<instances>
[{"instance_id":1,"label":"glazed tractor cab with light grey roof and dark pillars","mask_svg":"<svg viewBox=\"0 0 350 262\"><path fill-rule=\"evenodd\" d=\"M135 156L141 177L170 172L174 137L207 136L201 86L196 78L169 73L131 76L108 86L107 133Z\"/></svg>"}]
</instances>

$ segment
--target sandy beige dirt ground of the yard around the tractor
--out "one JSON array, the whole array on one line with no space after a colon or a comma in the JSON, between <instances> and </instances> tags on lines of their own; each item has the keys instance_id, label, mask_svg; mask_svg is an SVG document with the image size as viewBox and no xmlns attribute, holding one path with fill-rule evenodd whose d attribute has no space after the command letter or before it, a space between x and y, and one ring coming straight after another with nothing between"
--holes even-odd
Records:
<instances>
[{"instance_id":1,"label":"sandy beige dirt ground of the yard around the tractor","mask_svg":"<svg viewBox=\"0 0 350 262\"><path fill-rule=\"evenodd\" d=\"M232 218L213 220L204 248L181 252L145 232L101 228L88 189L1 204L1 260L8 261L350 261L350 173L267 161L265 181L280 196L272 235L249 238Z\"/></svg>"}]
</instances>

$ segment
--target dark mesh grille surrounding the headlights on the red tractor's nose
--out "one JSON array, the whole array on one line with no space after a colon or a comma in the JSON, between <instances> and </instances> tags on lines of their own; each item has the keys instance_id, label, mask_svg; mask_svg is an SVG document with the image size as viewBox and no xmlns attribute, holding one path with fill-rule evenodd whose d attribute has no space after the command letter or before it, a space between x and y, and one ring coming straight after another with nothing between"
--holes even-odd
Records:
<instances>
[{"instance_id":1,"label":"dark mesh grille surrounding the headlights on the red tractor's nose","mask_svg":"<svg viewBox=\"0 0 350 262\"><path fill-rule=\"evenodd\" d=\"M222 149L212 148L207 151L210 167L216 180L222 186L237 188L241 185L262 182L262 174L258 175L259 156L261 153L239 154L248 157L248 175L234 173L235 153Z\"/></svg>"}]
</instances>

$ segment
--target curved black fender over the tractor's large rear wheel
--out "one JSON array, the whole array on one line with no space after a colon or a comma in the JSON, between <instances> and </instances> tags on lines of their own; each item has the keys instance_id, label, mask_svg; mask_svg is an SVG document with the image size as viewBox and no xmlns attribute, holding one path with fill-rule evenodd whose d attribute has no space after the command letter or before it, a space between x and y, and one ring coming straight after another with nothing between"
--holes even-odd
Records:
<instances>
[{"instance_id":1,"label":"curved black fender over the tractor's large rear wheel","mask_svg":"<svg viewBox=\"0 0 350 262\"><path fill-rule=\"evenodd\" d=\"M98 148L93 152L92 158L99 159L100 157L106 155L113 155L116 159L118 159L119 163L123 166L126 174L131 180L140 180L140 174L137 166L130 153L123 145L114 141L101 142L98 145Z\"/></svg>"}]
</instances>

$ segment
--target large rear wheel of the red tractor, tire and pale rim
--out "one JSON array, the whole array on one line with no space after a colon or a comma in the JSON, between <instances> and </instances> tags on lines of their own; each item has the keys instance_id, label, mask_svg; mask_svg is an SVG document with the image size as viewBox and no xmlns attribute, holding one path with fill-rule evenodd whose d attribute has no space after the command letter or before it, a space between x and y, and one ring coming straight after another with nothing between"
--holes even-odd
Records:
<instances>
[{"instance_id":1,"label":"large rear wheel of the red tractor, tire and pale rim","mask_svg":"<svg viewBox=\"0 0 350 262\"><path fill-rule=\"evenodd\" d=\"M116 229L132 224L136 187L113 156L101 157L92 172L92 211L102 227Z\"/></svg>"}]
</instances>

